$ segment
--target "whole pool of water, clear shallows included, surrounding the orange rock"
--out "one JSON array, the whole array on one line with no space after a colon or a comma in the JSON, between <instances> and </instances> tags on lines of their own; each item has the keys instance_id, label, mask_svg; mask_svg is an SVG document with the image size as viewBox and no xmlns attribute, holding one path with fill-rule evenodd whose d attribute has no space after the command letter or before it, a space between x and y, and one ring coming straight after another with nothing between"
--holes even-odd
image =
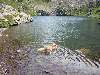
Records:
<instances>
[{"instance_id":1,"label":"whole pool of water, clear shallows included, surrounding the orange rock","mask_svg":"<svg viewBox=\"0 0 100 75\"><path fill-rule=\"evenodd\" d=\"M55 53L37 52L53 41L59 42ZM6 30L0 37L0 50L1 74L100 74L100 26L87 17L33 17L31 23Z\"/></svg>"}]
</instances>

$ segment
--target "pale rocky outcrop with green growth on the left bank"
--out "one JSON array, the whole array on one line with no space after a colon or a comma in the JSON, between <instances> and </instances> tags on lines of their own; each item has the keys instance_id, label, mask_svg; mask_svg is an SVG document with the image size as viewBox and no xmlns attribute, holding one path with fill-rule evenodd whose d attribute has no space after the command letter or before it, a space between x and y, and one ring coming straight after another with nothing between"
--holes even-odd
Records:
<instances>
[{"instance_id":1,"label":"pale rocky outcrop with green growth on the left bank","mask_svg":"<svg viewBox=\"0 0 100 75\"><path fill-rule=\"evenodd\" d=\"M0 3L0 27L9 27L32 21L32 17L24 12L18 12L12 6Z\"/></svg>"}]
</instances>

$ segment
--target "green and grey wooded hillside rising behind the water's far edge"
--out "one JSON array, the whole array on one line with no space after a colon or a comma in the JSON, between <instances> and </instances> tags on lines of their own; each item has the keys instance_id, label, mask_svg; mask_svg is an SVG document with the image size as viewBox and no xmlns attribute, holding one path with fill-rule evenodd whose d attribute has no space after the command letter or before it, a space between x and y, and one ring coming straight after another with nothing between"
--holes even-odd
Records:
<instances>
[{"instance_id":1,"label":"green and grey wooded hillside rising behind the water's far edge","mask_svg":"<svg viewBox=\"0 0 100 75\"><path fill-rule=\"evenodd\" d=\"M19 11L37 15L43 10L56 16L93 16L100 18L100 0L0 0Z\"/></svg>"}]
</instances>

